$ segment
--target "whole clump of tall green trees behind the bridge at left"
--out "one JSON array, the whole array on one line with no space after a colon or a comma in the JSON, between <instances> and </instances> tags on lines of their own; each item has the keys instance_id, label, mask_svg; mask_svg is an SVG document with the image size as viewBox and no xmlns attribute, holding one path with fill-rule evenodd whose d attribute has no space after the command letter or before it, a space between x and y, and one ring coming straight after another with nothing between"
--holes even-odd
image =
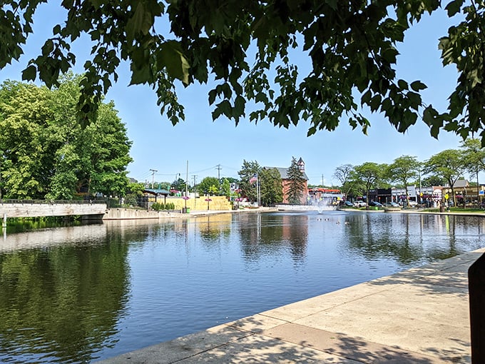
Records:
<instances>
[{"instance_id":1,"label":"whole clump of tall green trees behind the bridge at left","mask_svg":"<svg viewBox=\"0 0 485 364\"><path fill-rule=\"evenodd\" d=\"M80 76L63 76L53 90L0 86L1 177L7 198L72 198L100 192L123 196L131 141L113 103L81 128L75 118Z\"/></svg>"}]
</instances>

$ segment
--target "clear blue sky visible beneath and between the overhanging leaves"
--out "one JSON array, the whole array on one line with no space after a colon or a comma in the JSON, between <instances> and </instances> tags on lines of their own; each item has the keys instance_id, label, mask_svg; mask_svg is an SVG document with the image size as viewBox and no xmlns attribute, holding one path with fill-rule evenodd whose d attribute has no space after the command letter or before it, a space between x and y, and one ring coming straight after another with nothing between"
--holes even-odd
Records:
<instances>
[{"instance_id":1,"label":"clear blue sky visible beneath and between the overhanging leaves","mask_svg":"<svg viewBox=\"0 0 485 364\"><path fill-rule=\"evenodd\" d=\"M46 36L57 24L61 11L56 3L39 6L34 35L29 38L25 56L20 62L0 71L0 82L6 79L21 80L26 62L39 54ZM407 32L404 44L399 44L398 76L407 81L421 80L429 89L425 102L444 111L446 98L456 85L456 70L445 69L439 59L438 39L446 35L451 21L444 11L434 13ZM74 51L86 47L78 42ZM89 48L86 48L87 51ZM296 55L305 67L307 59ZM75 72L82 71L83 60L78 58ZM188 161L188 179L201 181L206 176L238 178L242 161L257 161L261 166L287 167L292 156L303 158L310 183L325 185L338 181L332 177L335 168L343 164L358 165L364 162L392 163L394 158L409 155L424 161L448 148L458 148L461 139L453 133L441 132L439 140L429 135L427 126L418 121L404 135L398 133L379 114L368 114L371 121L368 135L358 129L352 131L345 118L336 131L320 131L307 137L307 125L301 121L297 127L277 128L268 121L255 125L248 119L236 127L233 121L219 118L213 122L208 106L208 86L193 85L178 88L179 100L185 106L185 121L172 126L160 115L155 93L148 86L129 86L127 65L118 70L120 79L107 95L113 100L128 138L133 141L128 176L138 181L173 181L180 173L185 179Z\"/></svg>"}]
</instances>

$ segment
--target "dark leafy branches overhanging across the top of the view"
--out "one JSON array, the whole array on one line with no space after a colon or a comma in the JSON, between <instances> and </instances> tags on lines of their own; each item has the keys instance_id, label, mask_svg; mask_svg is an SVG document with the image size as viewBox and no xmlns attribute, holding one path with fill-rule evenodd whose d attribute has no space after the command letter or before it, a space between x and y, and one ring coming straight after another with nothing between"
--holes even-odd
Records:
<instances>
[{"instance_id":1,"label":"dark leafy branches overhanging across the top of the view","mask_svg":"<svg viewBox=\"0 0 485 364\"><path fill-rule=\"evenodd\" d=\"M23 54L36 8L46 2L2 3L0 69ZM215 81L208 94L213 119L226 116L238 124L250 110L254 122L288 127L307 121L311 135L347 118L366 132L364 107L383 113L399 132L422 119L432 136L444 129L485 141L483 1L63 0L61 6L66 19L53 27L22 77L57 86L76 64L73 42L91 40L77 103L83 125L96 118L126 61L131 84L151 86L174 125L184 118L178 81ZM405 31L441 6L450 17L461 15L439 39L443 65L453 64L459 74L446 111L425 103L422 81L399 79L396 72ZM308 71L298 68L295 51L307 55Z\"/></svg>"}]
</instances>

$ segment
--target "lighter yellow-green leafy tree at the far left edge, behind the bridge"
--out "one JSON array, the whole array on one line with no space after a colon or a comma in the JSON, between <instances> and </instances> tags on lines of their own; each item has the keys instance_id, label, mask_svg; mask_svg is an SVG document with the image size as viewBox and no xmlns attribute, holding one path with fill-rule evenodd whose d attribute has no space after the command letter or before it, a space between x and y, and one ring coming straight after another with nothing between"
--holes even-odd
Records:
<instances>
[{"instance_id":1,"label":"lighter yellow-green leafy tree at the far left edge, behind the bridge","mask_svg":"<svg viewBox=\"0 0 485 364\"><path fill-rule=\"evenodd\" d=\"M4 89L5 87L5 89ZM46 87L6 83L0 92L1 167L6 198L42 198L48 191L58 134Z\"/></svg>"}]
</instances>

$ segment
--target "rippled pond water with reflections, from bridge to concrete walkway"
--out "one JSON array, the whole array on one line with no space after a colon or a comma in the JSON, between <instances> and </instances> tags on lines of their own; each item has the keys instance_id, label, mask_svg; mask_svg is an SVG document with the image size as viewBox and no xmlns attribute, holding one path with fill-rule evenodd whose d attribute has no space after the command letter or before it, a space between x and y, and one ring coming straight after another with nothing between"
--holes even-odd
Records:
<instances>
[{"instance_id":1,"label":"rippled pond water with reflections, from bridge to concrete walkway","mask_svg":"<svg viewBox=\"0 0 485 364\"><path fill-rule=\"evenodd\" d=\"M0 362L88 363L485 246L485 219L227 213L0 237Z\"/></svg>"}]
</instances>

